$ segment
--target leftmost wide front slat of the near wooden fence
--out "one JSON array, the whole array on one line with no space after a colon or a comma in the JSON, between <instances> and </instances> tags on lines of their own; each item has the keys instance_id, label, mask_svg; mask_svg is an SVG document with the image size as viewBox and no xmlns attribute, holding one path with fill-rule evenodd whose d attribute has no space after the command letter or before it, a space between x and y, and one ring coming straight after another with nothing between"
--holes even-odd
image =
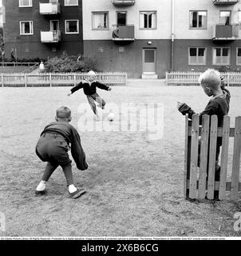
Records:
<instances>
[{"instance_id":1,"label":"leftmost wide front slat of the near wooden fence","mask_svg":"<svg viewBox=\"0 0 241 256\"><path fill-rule=\"evenodd\" d=\"M197 160L199 145L200 116L192 116L192 146L191 146L191 167L190 167L190 190L189 198L196 198Z\"/></svg>"}]
</instances>

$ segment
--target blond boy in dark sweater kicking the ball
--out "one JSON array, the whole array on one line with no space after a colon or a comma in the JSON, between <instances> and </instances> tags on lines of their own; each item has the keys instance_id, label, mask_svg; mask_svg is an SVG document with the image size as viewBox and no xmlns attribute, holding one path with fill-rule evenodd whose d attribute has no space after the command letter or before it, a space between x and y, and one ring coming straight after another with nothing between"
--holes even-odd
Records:
<instances>
[{"instance_id":1,"label":"blond boy in dark sweater kicking the ball","mask_svg":"<svg viewBox=\"0 0 241 256\"><path fill-rule=\"evenodd\" d=\"M93 110L93 113L96 115L97 121L99 121L100 118L97 113L97 106L99 106L102 110L104 110L105 101L103 98L101 98L99 96L99 94L97 94L97 87L102 90L111 90L110 86L106 86L105 84L98 82L96 80L95 72L93 70L90 70L87 75L87 78L84 81L77 84L77 86L74 86L70 90L71 93L69 93L68 96L70 96L71 94L73 94L75 91L77 91L79 89L83 89L84 94L87 96L89 105L90 105L91 109ZM97 106L95 104L95 101L98 103Z\"/></svg>"}]
</instances>

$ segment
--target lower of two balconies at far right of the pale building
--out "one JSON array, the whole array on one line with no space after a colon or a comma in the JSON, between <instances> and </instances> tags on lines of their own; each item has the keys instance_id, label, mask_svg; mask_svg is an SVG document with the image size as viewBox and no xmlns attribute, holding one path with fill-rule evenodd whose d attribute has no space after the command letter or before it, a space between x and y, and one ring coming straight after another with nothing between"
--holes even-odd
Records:
<instances>
[{"instance_id":1,"label":"lower of two balconies at far right of the pale building","mask_svg":"<svg viewBox=\"0 0 241 256\"><path fill-rule=\"evenodd\" d=\"M212 26L212 40L235 40L239 38L239 24Z\"/></svg>"}]
</instances>

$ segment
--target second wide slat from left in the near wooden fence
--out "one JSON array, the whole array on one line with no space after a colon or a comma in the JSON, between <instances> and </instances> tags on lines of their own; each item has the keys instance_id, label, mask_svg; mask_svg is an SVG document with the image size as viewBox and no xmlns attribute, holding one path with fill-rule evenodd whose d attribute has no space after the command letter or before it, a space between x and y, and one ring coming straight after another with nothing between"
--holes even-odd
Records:
<instances>
[{"instance_id":1,"label":"second wide slat from left in the near wooden fence","mask_svg":"<svg viewBox=\"0 0 241 256\"><path fill-rule=\"evenodd\" d=\"M203 120L202 120L201 150L200 150L200 178L199 178L199 198L200 199L204 199L206 194L209 122L210 122L209 115L204 114Z\"/></svg>"}]
</instances>

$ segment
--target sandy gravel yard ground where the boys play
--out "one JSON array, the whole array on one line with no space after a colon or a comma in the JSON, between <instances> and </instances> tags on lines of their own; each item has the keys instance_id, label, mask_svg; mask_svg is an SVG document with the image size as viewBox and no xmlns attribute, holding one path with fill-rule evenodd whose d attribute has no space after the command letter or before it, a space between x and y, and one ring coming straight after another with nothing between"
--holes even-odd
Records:
<instances>
[{"instance_id":1,"label":"sandy gravel yard ground where the boys play","mask_svg":"<svg viewBox=\"0 0 241 256\"><path fill-rule=\"evenodd\" d=\"M164 86L162 82L128 82L99 90L106 102L164 104L164 138L147 132L81 131L89 170L73 175L88 193L69 198L58 168L47 184L48 194L35 197L45 163L34 147L58 106L73 110L87 102L80 90L67 97L69 87L1 88L0 211L6 232L0 236L240 236L233 215L239 202L189 202L183 196L184 116L176 102L197 112L208 102L198 86ZM231 87L231 124L240 115L241 88ZM105 121L107 122L107 121ZM116 121L117 122L117 121ZM113 123L115 125L115 121ZM239 195L241 198L241 195Z\"/></svg>"}]
</instances>

